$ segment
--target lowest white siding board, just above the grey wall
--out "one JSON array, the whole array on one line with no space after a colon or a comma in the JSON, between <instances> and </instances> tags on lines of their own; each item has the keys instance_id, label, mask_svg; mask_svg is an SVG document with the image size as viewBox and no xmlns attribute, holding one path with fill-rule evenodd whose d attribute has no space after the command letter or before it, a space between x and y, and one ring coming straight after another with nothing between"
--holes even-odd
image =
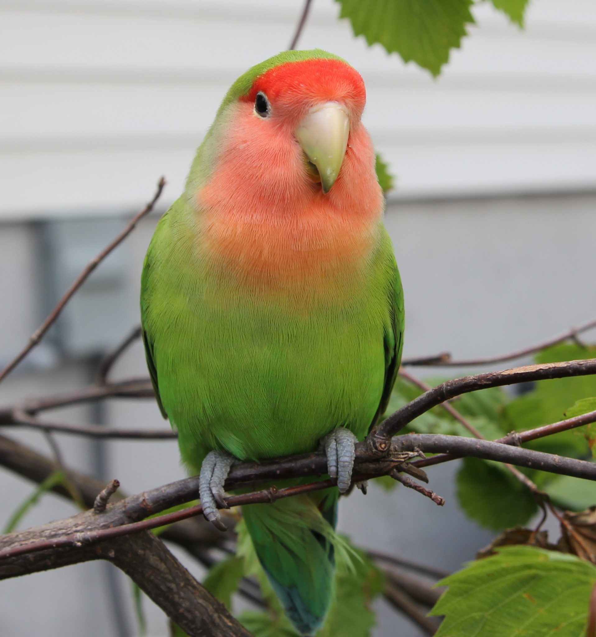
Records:
<instances>
[{"instance_id":1,"label":"lowest white siding board, just above the grey wall","mask_svg":"<svg viewBox=\"0 0 596 637\"><path fill-rule=\"evenodd\" d=\"M379 148L398 177L397 197L524 189L586 189L596 183L596 140L586 143L404 143ZM143 203L160 175L162 204L181 192L194 145L0 154L1 218L120 214Z\"/></svg>"}]
</instances>

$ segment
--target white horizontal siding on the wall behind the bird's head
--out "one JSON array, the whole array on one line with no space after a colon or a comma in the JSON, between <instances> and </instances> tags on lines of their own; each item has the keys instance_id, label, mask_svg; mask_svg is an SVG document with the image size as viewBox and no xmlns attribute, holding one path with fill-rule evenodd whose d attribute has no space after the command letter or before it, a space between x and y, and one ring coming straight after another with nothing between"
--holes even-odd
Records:
<instances>
[{"instance_id":1,"label":"white horizontal siding on the wall behind the bird's head","mask_svg":"<svg viewBox=\"0 0 596 637\"><path fill-rule=\"evenodd\" d=\"M180 192L231 82L287 47L302 0L0 1L0 216L115 213L159 175ZM355 39L317 0L301 47L364 75L397 196L596 183L596 4L488 5L439 80Z\"/></svg>"}]
</instances>

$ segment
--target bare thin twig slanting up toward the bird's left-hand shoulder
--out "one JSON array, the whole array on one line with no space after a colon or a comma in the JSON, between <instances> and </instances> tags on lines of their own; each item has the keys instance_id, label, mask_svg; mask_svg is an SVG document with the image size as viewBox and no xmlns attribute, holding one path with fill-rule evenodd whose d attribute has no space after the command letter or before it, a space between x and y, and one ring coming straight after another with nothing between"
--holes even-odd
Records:
<instances>
[{"instance_id":1,"label":"bare thin twig slanting up toward the bird's left-hand shoulder","mask_svg":"<svg viewBox=\"0 0 596 637\"><path fill-rule=\"evenodd\" d=\"M160 178L159 183L157 184L157 191L155 192L153 199L148 204L146 204L143 210L140 210L138 213L136 213L136 215L134 215L134 217L132 217L131 221L125 227L124 231L122 231L122 233L120 233L117 238L115 238L115 240L113 240L108 246L106 246L94 259L92 259L87 264L87 266L85 266L80 275L76 277L75 282L73 282L71 287L69 287L69 289L66 291L66 294L64 294L64 296L60 299L57 306L55 306L55 308L53 308L53 310L50 312L50 315L48 315L41 326L39 326L38 329L36 329L36 331L31 335L29 341L27 342L27 345L25 345L25 347L12 359L12 361L10 361L8 365L6 365L6 367L4 367L2 371L0 371L0 382L4 380L4 378L6 378L8 374L10 374L10 372L25 358L25 356L27 356L27 354L29 354L29 352L31 352L31 350L36 345L38 345L39 341L41 341L45 333L48 331L48 329L50 329L53 322L55 322L55 320L60 316L60 312L64 310L64 306L66 306L73 294L75 294L76 290L78 290L85 282L90 273L92 273L92 271L97 268L97 266L103 261L103 259L108 256L108 254L110 254L110 252L114 248L120 245L120 243L122 243L122 241L124 241L125 238L127 238L127 236L131 234L139 219L145 217L145 215L153 210L153 206L155 205L155 202L157 202L157 199L159 199L159 196L162 193L165 185L166 180L163 177Z\"/></svg>"}]
</instances>

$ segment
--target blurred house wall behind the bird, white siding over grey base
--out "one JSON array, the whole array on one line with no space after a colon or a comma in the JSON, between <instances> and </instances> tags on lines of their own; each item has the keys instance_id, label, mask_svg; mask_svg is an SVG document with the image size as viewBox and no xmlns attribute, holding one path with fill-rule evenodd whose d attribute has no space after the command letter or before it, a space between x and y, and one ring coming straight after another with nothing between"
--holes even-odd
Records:
<instances>
[{"instance_id":1,"label":"blurred house wall behind the bird, white siding over grey base","mask_svg":"<svg viewBox=\"0 0 596 637\"><path fill-rule=\"evenodd\" d=\"M24 345L80 269L152 196L178 196L229 85L285 49L302 0L0 0L0 364ZM596 316L596 5L534 0L521 32L486 4L438 80L355 39L339 5L315 0L299 47L343 56L367 86L365 124L397 190L387 225L406 294L404 355L500 354ZM92 275L50 338L0 385L0 404L75 389L138 322L139 275L159 218ZM142 348L114 378L145 375ZM422 372L421 372L422 373ZM435 370L436 373L436 370ZM164 427L155 404L52 414ZM3 433L45 454L41 434ZM174 441L97 445L59 437L67 464L127 493L182 477ZM372 489L341 506L364 546L457 569L492 537L458 510L457 466L429 471L439 509ZM0 524L32 492L0 468ZM22 522L75 513L46 496ZM176 552L185 563L185 555ZM0 583L0 635L138 634L129 585L104 564ZM190 568L197 575L200 569ZM127 629L113 620L110 591ZM149 634L166 619L146 603ZM378 603L375 637L418 637Z\"/></svg>"}]
</instances>

